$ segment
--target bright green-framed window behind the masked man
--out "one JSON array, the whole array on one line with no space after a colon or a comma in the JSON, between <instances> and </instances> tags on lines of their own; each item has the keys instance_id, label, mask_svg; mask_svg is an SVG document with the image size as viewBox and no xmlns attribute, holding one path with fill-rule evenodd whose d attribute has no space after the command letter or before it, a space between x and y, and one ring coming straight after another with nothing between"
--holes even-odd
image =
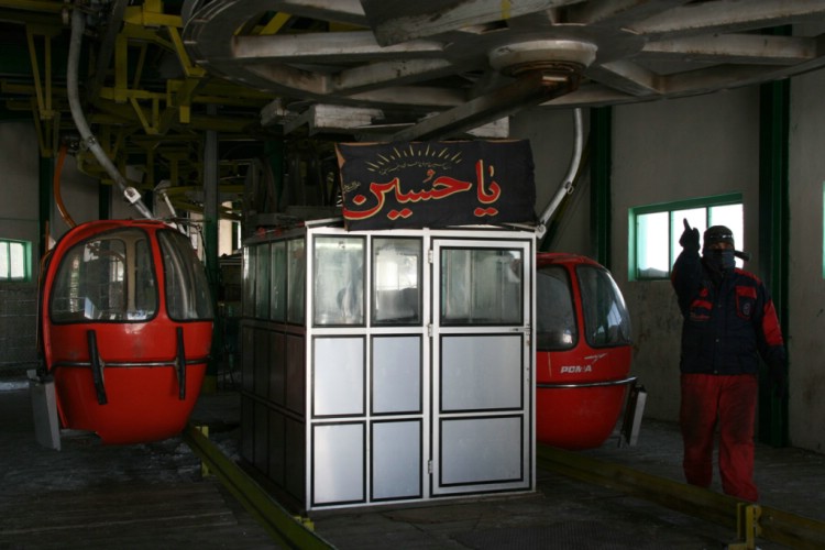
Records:
<instances>
[{"instance_id":1,"label":"bright green-framed window behind the masked man","mask_svg":"<svg viewBox=\"0 0 825 550\"><path fill-rule=\"evenodd\" d=\"M740 193L700 197L629 209L628 280L670 278L673 263L682 251L679 238L683 220L698 229L727 226L734 232L736 248L745 245L745 208ZM741 261L737 260L741 266Z\"/></svg>"}]
</instances>

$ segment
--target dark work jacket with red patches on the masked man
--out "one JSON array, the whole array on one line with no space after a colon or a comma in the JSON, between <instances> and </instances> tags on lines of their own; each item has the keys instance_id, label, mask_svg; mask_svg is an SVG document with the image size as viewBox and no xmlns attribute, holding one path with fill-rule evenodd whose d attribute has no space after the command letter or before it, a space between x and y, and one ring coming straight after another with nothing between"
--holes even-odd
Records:
<instances>
[{"instance_id":1,"label":"dark work jacket with red patches on the masked man","mask_svg":"<svg viewBox=\"0 0 825 550\"><path fill-rule=\"evenodd\" d=\"M684 318L683 373L756 374L758 355L769 365L785 364L773 300L756 275L735 268L714 283L698 253L682 251L671 283Z\"/></svg>"}]
</instances>

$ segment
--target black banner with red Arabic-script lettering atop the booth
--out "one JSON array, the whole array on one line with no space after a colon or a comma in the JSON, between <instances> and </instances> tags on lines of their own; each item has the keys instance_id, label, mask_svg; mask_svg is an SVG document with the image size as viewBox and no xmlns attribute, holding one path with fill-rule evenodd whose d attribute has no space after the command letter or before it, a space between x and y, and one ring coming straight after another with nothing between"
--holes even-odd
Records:
<instances>
[{"instance_id":1,"label":"black banner with red Arabic-script lettering atop the booth","mask_svg":"<svg viewBox=\"0 0 825 550\"><path fill-rule=\"evenodd\" d=\"M527 141L339 143L349 230L536 219Z\"/></svg>"}]
</instances>

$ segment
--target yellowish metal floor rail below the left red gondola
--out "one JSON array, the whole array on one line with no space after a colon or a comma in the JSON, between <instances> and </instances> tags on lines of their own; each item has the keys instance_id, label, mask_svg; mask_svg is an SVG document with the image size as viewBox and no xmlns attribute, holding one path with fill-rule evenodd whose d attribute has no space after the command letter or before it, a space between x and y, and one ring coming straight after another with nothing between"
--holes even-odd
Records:
<instances>
[{"instance_id":1,"label":"yellowish metal floor rail below the left red gondola","mask_svg":"<svg viewBox=\"0 0 825 550\"><path fill-rule=\"evenodd\" d=\"M187 426L183 439L278 544L310 550L334 548L275 502L197 428Z\"/></svg>"}]
</instances>

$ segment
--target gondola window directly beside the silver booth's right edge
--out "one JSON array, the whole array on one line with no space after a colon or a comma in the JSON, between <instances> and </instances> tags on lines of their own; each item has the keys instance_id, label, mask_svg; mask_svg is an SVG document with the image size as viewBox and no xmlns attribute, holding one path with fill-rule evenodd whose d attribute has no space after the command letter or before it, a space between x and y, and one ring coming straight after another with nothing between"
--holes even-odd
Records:
<instances>
[{"instance_id":1,"label":"gondola window directly beside the silver booth's right edge","mask_svg":"<svg viewBox=\"0 0 825 550\"><path fill-rule=\"evenodd\" d=\"M560 265L548 265L536 275L538 349L568 350L579 339L568 271Z\"/></svg>"}]
</instances>

